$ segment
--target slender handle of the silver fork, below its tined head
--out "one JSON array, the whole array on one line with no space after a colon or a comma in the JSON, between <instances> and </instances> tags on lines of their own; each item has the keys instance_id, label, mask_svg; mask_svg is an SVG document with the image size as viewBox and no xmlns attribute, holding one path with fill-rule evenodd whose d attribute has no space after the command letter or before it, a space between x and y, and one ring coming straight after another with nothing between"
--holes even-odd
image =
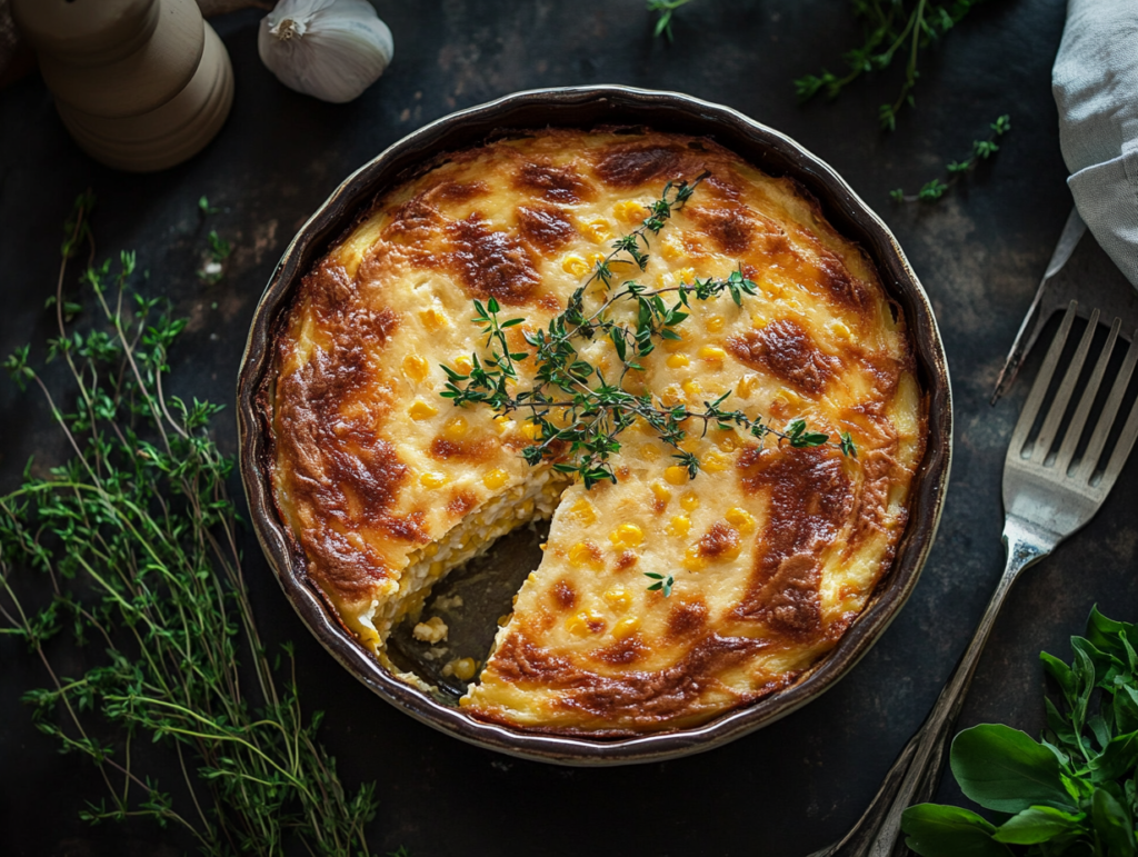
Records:
<instances>
[{"instance_id":1,"label":"slender handle of the silver fork, below its tined head","mask_svg":"<svg viewBox=\"0 0 1138 857\"><path fill-rule=\"evenodd\" d=\"M1058 539L1042 533L1025 521L1008 516L1004 525L1004 544L1007 546L1007 563L996 592L980 618L972 642L964 650L956 670L929 717L909 739L874 797L869 808L858 819L846 837L811 857L891 857L905 855L907 849L899 842L901 813L913 804L922 804L932 797L940 781L945 761L945 749L956 723L964 697L972 683L972 675L980 661L980 653L991 634L996 615L1004 604L1012 584L1020 572L1031 563L1049 554Z\"/></svg>"}]
</instances>

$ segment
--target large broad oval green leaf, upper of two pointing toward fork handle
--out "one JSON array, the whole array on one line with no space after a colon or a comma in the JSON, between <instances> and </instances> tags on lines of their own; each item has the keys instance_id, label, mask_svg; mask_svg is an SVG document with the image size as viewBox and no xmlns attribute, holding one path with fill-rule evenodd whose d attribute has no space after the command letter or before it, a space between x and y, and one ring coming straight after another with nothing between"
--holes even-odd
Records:
<instances>
[{"instance_id":1,"label":"large broad oval green leaf, upper of two pointing toward fork handle","mask_svg":"<svg viewBox=\"0 0 1138 857\"><path fill-rule=\"evenodd\" d=\"M953 741L951 767L962 791L988 809L1075 808L1055 755L1011 726L981 724L958 734Z\"/></svg>"}]
</instances>

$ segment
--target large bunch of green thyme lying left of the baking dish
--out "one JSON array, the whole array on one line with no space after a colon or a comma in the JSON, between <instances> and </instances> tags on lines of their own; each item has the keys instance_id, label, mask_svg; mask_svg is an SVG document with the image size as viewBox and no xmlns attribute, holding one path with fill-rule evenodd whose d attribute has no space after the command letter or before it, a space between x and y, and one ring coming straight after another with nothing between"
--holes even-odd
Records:
<instances>
[{"instance_id":1,"label":"large bunch of green thyme lying left of the baking dish","mask_svg":"<svg viewBox=\"0 0 1138 857\"><path fill-rule=\"evenodd\" d=\"M49 344L74 381L74 410L28 365L26 346L5 363L40 388L73 452L47 477L30 463L0 496L0 632L24 640L49 677L25 697L35 725L101 774L106 796L81 814L92 823L151 818L184 829L206 855L279 855L290 840L314 855L366 854L374 788L345 791L316 742L321 712L305 718L295 676L279 674L257 633L225 493L232 461L208 435L221 407L163 392L185 322L131 292L135 261L123 253L117 271L89 264L82 275L105 323L66 324L77 308L63 300L66 264L90 244L92 205L80 197L68 222ZM47 604L28 595L36 572ZM67 633L101 662L61 675L49 642ZM96 736L106 723L114 741ZM188 808L138 769L139 741L176 757Z\"/></svg>"}]
</instances>

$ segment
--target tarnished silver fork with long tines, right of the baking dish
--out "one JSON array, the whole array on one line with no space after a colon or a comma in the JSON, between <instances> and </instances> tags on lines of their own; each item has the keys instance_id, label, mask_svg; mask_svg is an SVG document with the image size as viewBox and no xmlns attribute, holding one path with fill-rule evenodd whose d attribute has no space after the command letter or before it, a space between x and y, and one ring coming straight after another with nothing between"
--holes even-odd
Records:
<instances>
[{"instance_id":1,"label":"tarnished silver fork with long tines, right of the baking dish","mask_svg":"<svg viewBox=\"0 0 1138 857\"><path fill-rule=\"evenodd\" d=\"M1108 460L1099 467L1111 429L1125 398L1135 363L1138 362L1138 344L1135 343L1138 331L1128 330L1125 333L1130 336L1121 337L1129 339L1130 345L1086 448L1082 450L1080 445L1087 419L1120 339L1121 319L1114 319L1106 344L1090 377L1085 381L1086 386L1074 412L1064 425L1099 327L1098 310L1090 313L1087 330L1044 414L1042 426L1036 431L1077 311L1078 303L1072 300L1012 432L1012 443L1004 462L1004 509L1007 513L1004 543L1007 546L1007 565L972 642L927 719L889 769L865 815L842 840L811 857L890 857L907 851L904 843L899 842L901 813L913 804L929 800L937 788L948 737L1008 590L1023 569L1048 555L1059 542L1095 516L1130 454L1138 435L1138 401L1130 409L1130 415L1118 434ZM1075 453L1080 450L1082 454L1077 459Z\"/></svg>"}]
</instances>

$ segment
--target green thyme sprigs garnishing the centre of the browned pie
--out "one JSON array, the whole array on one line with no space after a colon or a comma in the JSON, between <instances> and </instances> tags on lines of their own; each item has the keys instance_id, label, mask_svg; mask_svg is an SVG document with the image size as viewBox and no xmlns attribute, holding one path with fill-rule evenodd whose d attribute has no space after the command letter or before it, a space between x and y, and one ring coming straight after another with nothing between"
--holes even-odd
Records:
<instances>
[{"instance_id":1,"label":"green thyme sprigs garnishing the centre of the browned pie","mask_svg":"<svg viewBox=\"0 0 1138 857\"><path fill-rule=\"evenodd\" d=\"M801 419L792 420L780 431L761 417L724 410L721 405L731 392L704 402L702 410L695 410L685 405L668 407L650 392L636 394L625 388L629 372L643 371L638 360L655 349L657 340L681 339L676 328L688 318L686 311L691 308L692 298L703 302L727 292L742 306L744 295L757 294L757 286L740 271L724 279L695 278L693 283L648 289L634 280L620 282L615 270L616 265L632 266L641 273L648 269L649 236L660 233L673 212L683 207L707 175L703 173L691 183L668 182L641 225L612 242L611 253L596 263L592 275L569 297L566 310L550 320L549 329L525 332L526 341L534 348L531 387L512 392L519 380L518 363L526 361L530 353L511 352L506 339L506 330L522 324L525 319L502 321L498 318L502 307L489 298L485 305L475 300L477 314L472 319L486 326L481 332L486 335L488 353L481 360L478 354L471 355L472 369L468 374L444 365L447 382L439 395L455 405L486 404L500 414L526 411L536 427L538 442L522 452L526 461L537 464L558 459L553 469L576 475L586 488L605 479L617 481L609 459L620 450L619 435L637 421L654 429L660 439L676 451L673 458L686 468L692 479L699 473L699 459L681 446L687 438L684 423L690 420L701 421L703 434L714 423L724 431L741 428L760 442L769 435L794 447L828 443L828 435L808 430ZM607 297L596 310L587 312L585 298L594 283L600 283ZM676 302L669 306L663 295L671 292ZM615 319L615 308L625 304L635 305L634 323ZM608 338L620 361L620 372L612 381L578 351L582 341L597 338ZM844 454L857 456L848 432L842 432L838 445Z\"/></svg>"}]
</instances>

